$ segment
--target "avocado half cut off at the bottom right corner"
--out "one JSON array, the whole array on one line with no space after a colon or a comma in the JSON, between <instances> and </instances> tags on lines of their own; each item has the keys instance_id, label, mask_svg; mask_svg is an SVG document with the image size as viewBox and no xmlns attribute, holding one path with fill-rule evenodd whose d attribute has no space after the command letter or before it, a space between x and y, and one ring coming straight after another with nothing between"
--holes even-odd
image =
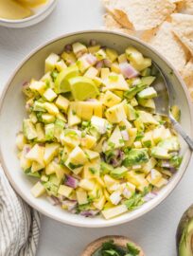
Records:
<instances>
[{"instance_id":1,"label":"avocado half cut off at the bottom right corner","mask_svg":"<svg viewBox=\"0 0 193 256\"><path fill-rule=\"evenodd\" d=\"M177 255L180 256L185 253L183 250L187 248L193 255L193 237L192 237L192 223L193 221L193 205L185 210L176 231L176 250ZM183 254L186 255L186 254Z\"/></svg>"}]
</instances>

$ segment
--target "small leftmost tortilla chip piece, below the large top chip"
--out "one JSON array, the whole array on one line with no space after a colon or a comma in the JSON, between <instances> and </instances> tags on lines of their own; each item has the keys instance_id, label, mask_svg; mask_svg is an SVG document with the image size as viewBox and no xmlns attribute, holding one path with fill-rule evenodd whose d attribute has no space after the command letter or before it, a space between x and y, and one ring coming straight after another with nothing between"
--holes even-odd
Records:
<instances>
[{"instance_id":1,"label":"small leftmost tortilla chip piece, below the large top chip","mask_svg":"<svg viewBox=\"0 0 193 256\"><path fill-rule=\"evenodd\" d=\"M104 25L107 29L122 32L129 35L134 35L134 31L122 27L119 23L114 20L114 17L110 13L104 15Z\"/></svg>"}]
</instances>

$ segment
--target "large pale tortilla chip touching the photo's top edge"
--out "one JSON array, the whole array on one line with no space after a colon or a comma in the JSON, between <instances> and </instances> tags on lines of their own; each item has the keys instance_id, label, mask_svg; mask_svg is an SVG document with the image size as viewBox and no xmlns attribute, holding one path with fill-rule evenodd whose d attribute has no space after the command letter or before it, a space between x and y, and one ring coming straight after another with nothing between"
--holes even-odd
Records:
<instances>
[{"instance_id":1,"label":"large pale tortilla chip touching the photo's top edge","mask_svg":"<svg viewBox=\"0 0 193 256\"><path fill-rule=\"evenodd\" d=\"M119 19L122 16L123 27L132 24L135 30L148 30L159 26L176 8L170 0L103 0L103 4L114 13L116 20L117 12Z\"/></svg>"}]
</instances>

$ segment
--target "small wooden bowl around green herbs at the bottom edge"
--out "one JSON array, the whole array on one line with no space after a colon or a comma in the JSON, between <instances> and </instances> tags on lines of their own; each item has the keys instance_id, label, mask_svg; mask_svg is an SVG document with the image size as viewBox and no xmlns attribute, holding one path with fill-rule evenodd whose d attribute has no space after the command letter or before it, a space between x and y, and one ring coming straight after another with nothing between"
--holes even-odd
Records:
<instances>
[{"instance_id":1,"label":"small wooden bowl around green herbs at the bottom edge","mask_svg":"<svg viewBox=\"0 0 193 256\"><path fill-rule=\"evenodd\" d=\"M97 239L96 241L94 241L93 243L88 245L88 247L85 248L81 256L101 256L100 249L102 245L109 241L114 241L114 245L118 247L121 251L126 251L127 244L130 244L139 250L139 253L136 256L145 256L142 248L134 244L127 237L114 235L104 236L102 238Z\"/></svg>"}]
</instances>

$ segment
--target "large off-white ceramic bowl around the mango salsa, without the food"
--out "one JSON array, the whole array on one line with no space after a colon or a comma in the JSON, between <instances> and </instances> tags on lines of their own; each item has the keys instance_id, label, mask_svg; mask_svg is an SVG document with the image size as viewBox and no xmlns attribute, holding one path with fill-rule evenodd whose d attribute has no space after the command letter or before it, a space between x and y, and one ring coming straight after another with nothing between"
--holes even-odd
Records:
<instances>
[{"instance_id":1,"label":"large off-white ceramic bowl around the mango salsa, without the food","mask_svg":"<svg viewBox=\"0 0 193 256\"><path fill-rule=\"evenodd\" d=\"M33 208L62 223L79 227L99 228L129 222L159 205L179 183L190 160L191 152L182 140L181 154L184 155L184 160L180 170L172 177L167 186L163 188L154 199L149 201L149 203L144 204L137 210L133 210L132 212L128 212L111 220L105 220L99 216L96 218L85 218L80 215L75 215L52 206L44 197L36 199L31 195L30 188L35 181L33 178L28 178L21 171L15 147L15 136L21 129L22 120L26 115L25 100L21 90L22 84L29 81L30 78L41 78L44 74L44 60L49 53L61 53L63 46L66 44L76 41L88 43L90 39L96 39L101 45L113 47L120 52L129 45L135 46L145 56L150 57L155 63L159 64L167 78L174 84L172 101L178 104L182 110L182 125L184 130L191 137L193 137L193 131L192 113L187 90L178 73L167 63L166 59L161 57L155 50L132 37L104 30L81 31L67 34L50 41L44 46L37 48L26 57L23 63L20 64L12 74L1 100L0 160L4 171L16 192Z\"/></svg>"}]
</instances>

